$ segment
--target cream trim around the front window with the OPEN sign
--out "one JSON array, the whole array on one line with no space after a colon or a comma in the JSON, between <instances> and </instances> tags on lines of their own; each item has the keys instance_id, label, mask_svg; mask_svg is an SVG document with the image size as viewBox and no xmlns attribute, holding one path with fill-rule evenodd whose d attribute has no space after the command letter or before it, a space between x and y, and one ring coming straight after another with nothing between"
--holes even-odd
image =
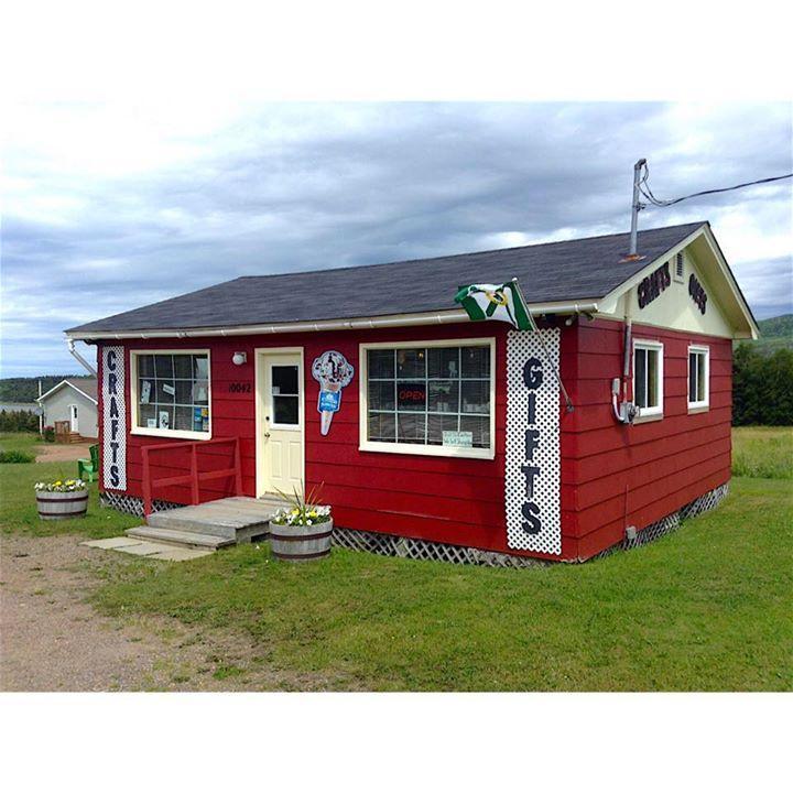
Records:
<instances>
[{"instance_id":1,"label":"cream trim around the front window with the OPEN sign","mask_svg":"<svg viewBox=\"0 0 793 793\"><path fill-rule=\"evenodd\" d=\"M369 366L367 351L370 349L410 349L415 347L489 347L490 348L490 446L489 448L465 448L456 446L423 446L420 444L383 443L367 437L369 415ZM358 345L359 388L359 444L360 452L384 452L385 454L421 455L427 457L467 457L471 459L495 459L496 457L496 337L448 338L410 341L377 341Z\"/></svg>"}]
</instances>

